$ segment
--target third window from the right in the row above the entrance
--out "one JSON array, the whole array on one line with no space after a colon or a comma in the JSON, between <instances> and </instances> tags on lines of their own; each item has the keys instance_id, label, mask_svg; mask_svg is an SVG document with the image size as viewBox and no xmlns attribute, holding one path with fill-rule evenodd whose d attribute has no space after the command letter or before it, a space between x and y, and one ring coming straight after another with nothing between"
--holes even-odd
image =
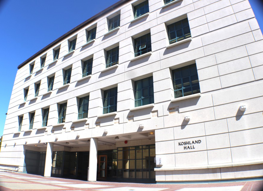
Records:
<instances>
[{"instance_id":1,"label":"third window from the right in the row above the entrance","mask_svg":"<svg viewBox=\"0 0 263 191\"><path fill-rule=\"evenodd\" d=\"M117 87L104 91L103 114L117 111Z\"/></svg>"}]
</instances>

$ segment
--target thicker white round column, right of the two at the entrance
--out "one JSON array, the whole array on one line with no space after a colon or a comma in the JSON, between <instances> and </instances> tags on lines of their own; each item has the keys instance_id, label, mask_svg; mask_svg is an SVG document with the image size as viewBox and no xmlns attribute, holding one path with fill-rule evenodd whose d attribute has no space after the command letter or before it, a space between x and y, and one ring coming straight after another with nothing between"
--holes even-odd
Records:
<instances>
[{"instance_id":1,"label":"thicker white round column, right of the two at the entrance","mask_svg":"<svg viewBox=\"0 0 263 191\"><path fill-rule=\"evenodd\" d=\"M97 179L97 152L98 139L91 138L88 163L88 181L96 181Z\"/></svg>"}]
</instances>

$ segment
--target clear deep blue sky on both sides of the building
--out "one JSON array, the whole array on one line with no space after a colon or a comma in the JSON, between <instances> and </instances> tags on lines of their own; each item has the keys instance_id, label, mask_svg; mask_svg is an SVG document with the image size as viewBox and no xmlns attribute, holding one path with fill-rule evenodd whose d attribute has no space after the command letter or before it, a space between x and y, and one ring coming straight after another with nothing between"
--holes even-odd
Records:
<instances>
[{"instance_id":1,"label":"clear deep blue sky on both sides of the building","mask_svg":"<svg viewBox=\"0 0 263 191\"><path fill-rule=\"evenodd\" d=\"M118 0L0 0L0 135L17 66ZM263 29L263 3L249 0Z\"/></svg>"}]
</instances>

